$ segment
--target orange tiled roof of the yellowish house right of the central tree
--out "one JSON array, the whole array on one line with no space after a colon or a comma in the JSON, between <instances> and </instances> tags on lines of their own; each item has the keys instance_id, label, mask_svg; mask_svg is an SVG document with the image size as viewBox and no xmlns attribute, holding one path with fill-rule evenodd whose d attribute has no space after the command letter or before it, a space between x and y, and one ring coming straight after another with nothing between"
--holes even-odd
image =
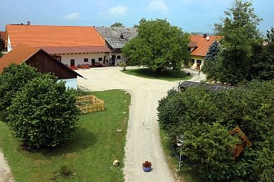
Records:
<instances>
[{"instance_id":1,"label":"orange tiled roof of the yellowish house right of the central tree","mask_svg":"<svg viewBox=\"0 0 274 182\"><path fill-rule=\"evenodd\" d=\"M190 36L190 43L188 44L188 47L196 47L190 55L199 55L199 56L206 56L206 53L208 53L208 49L210 45L215 40L220 40L221 36L209 36L209 40L207 38L203 38L203 36ZM193 46L197 45L197 46Z\"/></svg>"}]
</instances>

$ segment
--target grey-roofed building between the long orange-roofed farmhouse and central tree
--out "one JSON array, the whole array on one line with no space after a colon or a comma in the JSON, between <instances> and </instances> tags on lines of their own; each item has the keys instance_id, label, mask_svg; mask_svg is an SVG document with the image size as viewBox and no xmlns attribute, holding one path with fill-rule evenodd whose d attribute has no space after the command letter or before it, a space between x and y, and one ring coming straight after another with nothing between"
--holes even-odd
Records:
<instances>
[{"instance_id":1,"label":"grey-roofed building between the long orange-roofed farmhouse and central tree","mask_svg":"<svg viewBox=\"0 0 274 182\"><path fill-rule=\"evenodd\" d=\"M112 50L110 65L116 65L124 61L121 48L138 34L137 28L95 27L95 29L103 36L106 45Z\"/></svg>"}]
</instances>

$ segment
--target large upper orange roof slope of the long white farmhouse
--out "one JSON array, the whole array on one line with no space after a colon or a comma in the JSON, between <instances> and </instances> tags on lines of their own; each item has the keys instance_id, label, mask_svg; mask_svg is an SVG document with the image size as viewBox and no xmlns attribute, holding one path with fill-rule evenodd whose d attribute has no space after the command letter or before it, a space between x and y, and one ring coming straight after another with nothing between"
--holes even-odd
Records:
<instances>
[{"instance_id":1,"label":"large upper orange roof slope of the long white farmhouse","mask_svg":"<svg viewBox=\"0 0 274 182\"><path fill-rule=\"evenodd\" d=\"M32 47L105 46L105 40L94 27L51 25L6 25L12 47L27 44Z\"/></svg>"}]
</instances>

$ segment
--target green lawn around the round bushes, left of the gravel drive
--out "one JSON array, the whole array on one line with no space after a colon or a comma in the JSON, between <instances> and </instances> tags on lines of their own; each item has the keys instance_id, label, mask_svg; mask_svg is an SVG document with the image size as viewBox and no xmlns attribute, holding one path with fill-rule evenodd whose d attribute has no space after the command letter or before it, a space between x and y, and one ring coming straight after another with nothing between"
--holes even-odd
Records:
<instances>
[{"instance_id":1,"label":"green lawn around the round bushes, left of the gravel drive","mask_svg":"<svg viewBox=\"0 0 274 182\"><path fill-rule=\"evenodd\" d=\"M130 95L123 90L92 94L105 101L105 111L80 116L75 137L54 151L23 150L8 125L0 122L0 148L16 181L124 181ZM115 159L121 161L117 167L112 166Z\"/></svg>"}]
</instances>

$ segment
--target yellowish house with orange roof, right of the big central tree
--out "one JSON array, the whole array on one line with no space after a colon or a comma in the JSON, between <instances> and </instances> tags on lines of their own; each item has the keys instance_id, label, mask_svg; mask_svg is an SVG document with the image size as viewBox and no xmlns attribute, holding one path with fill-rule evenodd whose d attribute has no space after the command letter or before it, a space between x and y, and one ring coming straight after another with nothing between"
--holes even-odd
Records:
<instances>
[{"instance_id":1,"label":"yellowish house with orange roof, right of the big central tree","mask_svg":"<svg viewBox=\"0 0 274 182\"><path fill-rule=\"evenodd\" d=\"M188 48L190 50L191 56L191 68L201 70L210 45L215 40L218 41L220 39L221 36L207 36L207 34L203 34L203 36L190 36L190 43L188 44Z\"/></svg>"}]
</instances>

